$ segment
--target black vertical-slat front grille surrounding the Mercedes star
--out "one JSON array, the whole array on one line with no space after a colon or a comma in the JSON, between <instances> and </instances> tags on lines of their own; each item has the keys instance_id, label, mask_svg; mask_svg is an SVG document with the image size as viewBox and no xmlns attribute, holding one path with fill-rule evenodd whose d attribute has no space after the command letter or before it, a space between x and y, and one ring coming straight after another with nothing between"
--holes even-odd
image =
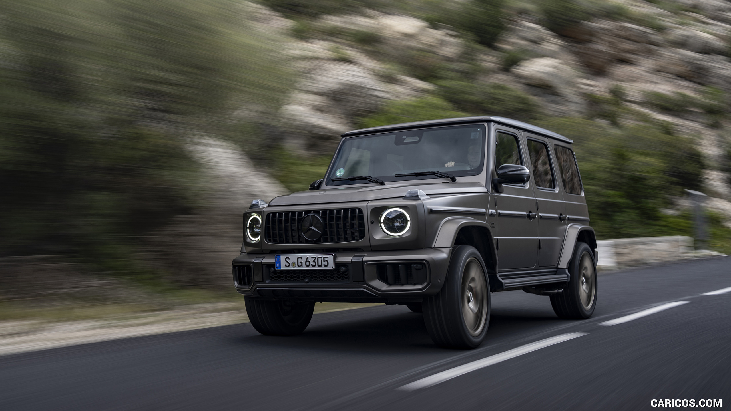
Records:
<instances>
[{"instance_id":1,"label":"black vertical-slat front grille surrounding the Mercedes star","mask_svg":"<svg viewBox=\"0 0 731 411\"><path fill-rule=\"evenodd\" d=\"M325 223L322 237L308 241L302 235L300 226L307 214L317 214ZM318 244L358 241L366 237L366 222L360 208L339 208L335 210L288 211L267 214L264 235L272 244Z\"/></svg>"}]
</instances>

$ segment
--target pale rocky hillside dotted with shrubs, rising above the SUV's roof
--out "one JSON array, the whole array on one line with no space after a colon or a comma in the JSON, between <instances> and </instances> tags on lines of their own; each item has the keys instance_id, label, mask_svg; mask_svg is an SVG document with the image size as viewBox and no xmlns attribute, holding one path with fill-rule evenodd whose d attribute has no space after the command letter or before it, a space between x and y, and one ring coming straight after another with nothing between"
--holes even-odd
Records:
<instances>
[{"instance_id":1,"label":"pale rocky hillside dotted with shrubs, rising above the SUV's roof","mask_svg":"<svg viewBox=\"0 0 731 411\"><path fill-rule=\"evenodd\" d=\"M297 16L251 7L264 29L279 33L300 73L279 111L289 125L284 143L291 151L330 153L341 132L398 101L450 100L450 83L459 79L433 72L467 72L474 88L507 89L507 95L488 93L486 99L521 102L528 96L538 107L489 110L485 102L469 110L456 102L465 113L537 122L568 116L609 128L663 124L678 140L692 139L702 154L702 189L713 196L709 206L729 215L731 2L610 4L613 10L555 31L537 7L513 5L491 47L413 15L363 9L304 24ZM683 208L683 200L675 198L671 206Z\"/></svg>"}]
</instances>

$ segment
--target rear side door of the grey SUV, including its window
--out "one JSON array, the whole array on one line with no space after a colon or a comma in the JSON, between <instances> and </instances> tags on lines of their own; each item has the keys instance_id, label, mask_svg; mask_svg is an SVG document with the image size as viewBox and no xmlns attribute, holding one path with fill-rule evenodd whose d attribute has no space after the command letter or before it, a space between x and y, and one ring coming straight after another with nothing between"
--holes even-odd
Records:
<instances>
[{"instance_id":1,"label":"rear side door of the grey SUV, including its window","mask_svg":"<svg viewBox=\"0 0 731 411\"><path fill-rule=\"evenodd\" d=\"M550 140L527 132L524 134L538 214L538 265L555 267L566 235L564 196L558 187L558 173L551 155Z\"/></svg>"}]
</instances>

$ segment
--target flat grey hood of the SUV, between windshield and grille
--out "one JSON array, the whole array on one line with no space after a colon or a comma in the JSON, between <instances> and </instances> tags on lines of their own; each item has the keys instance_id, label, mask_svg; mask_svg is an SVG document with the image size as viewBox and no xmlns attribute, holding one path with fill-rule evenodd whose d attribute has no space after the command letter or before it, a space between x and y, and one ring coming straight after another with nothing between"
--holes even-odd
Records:
<instances>
[{"instance_id":1,"label":"flat grey hood of the SUV, between windshield and grille","mask_svg":"<svg viewBox=\"0 0 731 411\"><path fill-rule=\"evenodd\" d=\"M370 201L382 198L404 197L409 189L420 189L426 195L458 194L463 192L487 192L480 183L427 183L386 184L385 186L344 186L333 189L293 192L275 197L270 206L295 206L297 204L346 203Z\"/></svg>"}]
</instances>

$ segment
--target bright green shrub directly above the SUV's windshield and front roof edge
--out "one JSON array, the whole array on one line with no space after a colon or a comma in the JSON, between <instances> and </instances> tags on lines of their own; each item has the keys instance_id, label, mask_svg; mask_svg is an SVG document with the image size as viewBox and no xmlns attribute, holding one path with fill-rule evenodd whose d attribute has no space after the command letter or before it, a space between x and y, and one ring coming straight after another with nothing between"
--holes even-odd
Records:
<instances>
[{"instance_id":1,"label":"bright green shrub directly above the SUV's windshield and front roof edge","mask_svg":"<svg viewBox=\"0 0 731 411\"><path fill-rule=\"evenodd\" d=\"M359 127L378 127L387 124L411 121L436 120L439 118L464 117L465 113L455 110L449 102L439 97L397 100L385 105L377 113L360 118Z\"/></svg>"}]
</instances>

